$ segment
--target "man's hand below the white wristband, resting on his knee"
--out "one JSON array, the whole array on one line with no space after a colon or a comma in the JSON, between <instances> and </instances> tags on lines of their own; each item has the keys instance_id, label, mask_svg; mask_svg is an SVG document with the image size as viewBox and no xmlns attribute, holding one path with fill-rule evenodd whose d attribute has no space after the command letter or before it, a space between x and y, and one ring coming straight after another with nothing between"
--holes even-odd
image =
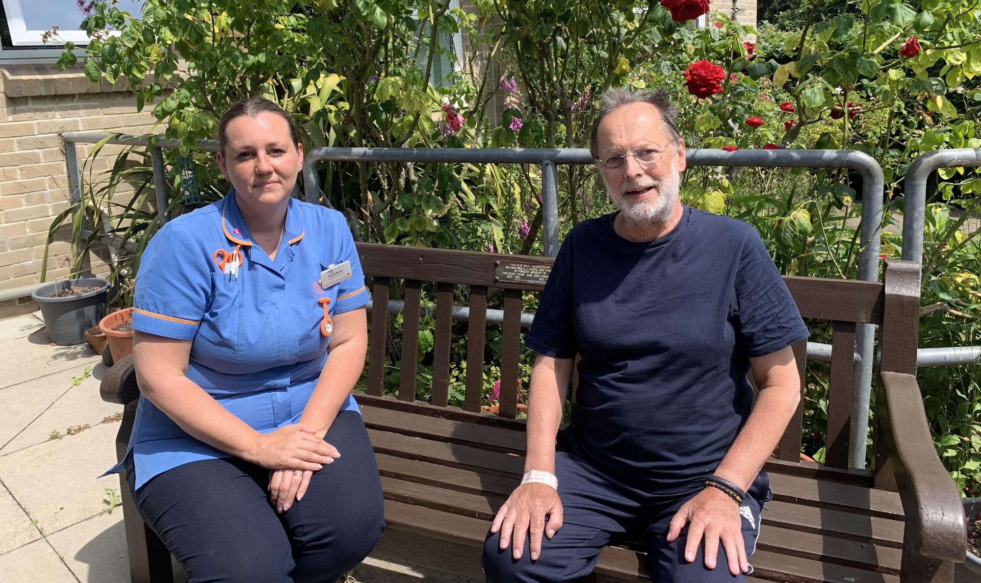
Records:
<instances>
[{"instance_id":1,"label":"man's hand below the white wristband, resting on his knee","mask_svg":"<svg viewBox=\"0 0 981 583\"><path fill-rule=\"evenodd\" d=\"M542 555L542 534L550 539L561 527L562 502L558 492L547 484L529 482L518 486L497 510L490 532L500 532L500 548L510 545L511 556L516 559L521 558L525 535L530 533L532 560L537 560Z\"/></svg>"}]
</instances>

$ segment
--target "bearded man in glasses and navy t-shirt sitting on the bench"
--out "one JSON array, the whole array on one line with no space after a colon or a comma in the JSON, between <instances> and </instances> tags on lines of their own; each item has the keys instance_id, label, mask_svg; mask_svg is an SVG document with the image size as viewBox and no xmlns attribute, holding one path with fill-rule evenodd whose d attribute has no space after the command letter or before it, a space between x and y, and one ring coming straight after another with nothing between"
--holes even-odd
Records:
<instances>
[{"instance_id":1,"label":"bearded man in glasses and navy t-shirt sitting on the bench","mask_svg":"<svg viewBox=\"0 0 981 583\"><path fill-rule=\"evenodd\" d=\"M807 328L751 226L679 201L675 113L664 91L603 98L592 152L620 210L569 233L542 293L526 473L490 528L488 581L571 581L624 532L645 534L655 582L751 572Z\"/></svg>"}]
</instances>

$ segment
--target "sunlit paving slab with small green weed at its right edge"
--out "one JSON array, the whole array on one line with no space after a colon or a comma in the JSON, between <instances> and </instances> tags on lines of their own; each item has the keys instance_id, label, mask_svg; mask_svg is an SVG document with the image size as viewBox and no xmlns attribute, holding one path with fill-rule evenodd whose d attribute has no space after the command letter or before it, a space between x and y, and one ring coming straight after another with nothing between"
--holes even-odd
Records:
<instances>
[{"instance_id":1,"label":"sunlit paving slab with small green weed at its right edge","mask_svg":"<svg viewBox=\"0 0 981 583\"><path fill-rule=\"evenodd\" d=\"M117 476L97 478L116 463L118 429L100 424L0 456L0 480L45 535L95 516L106 507L104 490L119 490Z\"/></svg>"}]
</instances>

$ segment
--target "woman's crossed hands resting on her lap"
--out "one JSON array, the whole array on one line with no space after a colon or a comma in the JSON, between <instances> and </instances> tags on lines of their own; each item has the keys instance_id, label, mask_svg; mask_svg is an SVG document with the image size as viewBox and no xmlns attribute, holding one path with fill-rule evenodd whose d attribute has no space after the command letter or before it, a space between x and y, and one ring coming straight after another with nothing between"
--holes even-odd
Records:
<instances>
[{"instance_id":1,"label":"woman's crossed hands resting on her lap","mask_svg":"<svg viewBox=\"0 0 981 583\"><path fill-rule=\"evenodd\" d=\"M250 457L253 463L269 468L269 499L277 512L284 512L306 494L313 472L340 453L316 430L297 423L259 434Z\"/></svg>"}]
</instances>

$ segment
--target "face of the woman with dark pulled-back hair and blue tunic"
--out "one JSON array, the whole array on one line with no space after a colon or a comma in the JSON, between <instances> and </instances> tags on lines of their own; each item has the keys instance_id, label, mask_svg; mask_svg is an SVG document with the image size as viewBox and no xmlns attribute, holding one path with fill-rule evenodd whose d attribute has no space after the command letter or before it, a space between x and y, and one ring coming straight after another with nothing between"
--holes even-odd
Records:
<instances>
[{"instance_id":1,"label":"face of the woman with dark pulled-back hair and blue tunic","mask_svg":"<svg viewBox=\"0 0 981 583\"><path fill-rule=\"evenodd\" d=\"M229 123L226 136L218 165L239 203L258 208L284 203L303 167L303 146L293 143L286 121L269 112L239 116Z\"/></svg>"}]
</instances>

